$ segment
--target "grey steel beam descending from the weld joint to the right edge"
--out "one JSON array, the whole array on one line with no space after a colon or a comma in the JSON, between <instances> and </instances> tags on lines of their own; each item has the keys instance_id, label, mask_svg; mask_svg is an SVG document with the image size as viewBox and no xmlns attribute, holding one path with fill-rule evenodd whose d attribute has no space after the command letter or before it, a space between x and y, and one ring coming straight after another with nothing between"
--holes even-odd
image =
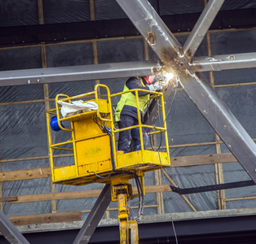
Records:
<instances>
[{"instance_id":1,"label":"grey steel beam descending from the weld joint to the right edge","mask_svg":"<svg viewBox=\"0 0 256 244\"><path fill-rule=\"evenodd\" d=\"M256 144L205 77L182 74L183 90L256 183Z\"/></svg>"}]
</instances>

